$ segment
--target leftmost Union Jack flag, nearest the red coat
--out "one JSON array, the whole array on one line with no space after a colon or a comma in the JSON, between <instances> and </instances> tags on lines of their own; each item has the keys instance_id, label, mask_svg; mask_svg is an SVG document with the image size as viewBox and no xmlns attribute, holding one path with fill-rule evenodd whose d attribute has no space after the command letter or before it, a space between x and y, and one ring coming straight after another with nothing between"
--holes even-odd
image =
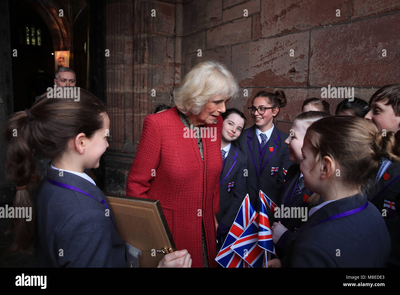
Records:
<instances>
[{"instance_id":1,"label":"leftmost Union Jack flag, nearest the red coat","mask_svg":"<svg viewBox=\"0 0 400 295\"><path fill-rule=\"evenodd\" d=\"M248 225L254 221L256 216L257 213L250 204L249 195L247 194L242 202L242 205L240 206L235 221L229 230L228 236L226 237L220 252L215 258L220 265L223 267L248 267L248 263L246 263L238 254L236 254L231 249L231 246L240 237L240 235L242 235L246 227L248 227Z\"/></svg>"}]
</instances>

